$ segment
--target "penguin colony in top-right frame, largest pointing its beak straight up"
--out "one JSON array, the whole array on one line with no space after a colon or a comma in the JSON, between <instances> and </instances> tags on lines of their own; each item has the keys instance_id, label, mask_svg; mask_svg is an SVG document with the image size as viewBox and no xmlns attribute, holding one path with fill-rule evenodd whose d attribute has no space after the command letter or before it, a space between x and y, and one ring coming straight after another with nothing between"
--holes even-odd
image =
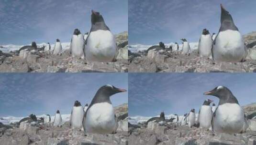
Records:
<instances>
[{"instance_id":1,"label":"penguin colony in top-right frame, largest pointing its beak straight up","mask_svg":"<svg viewBox=\"0 0 256 145\"><path fill-rule=\"evenodd\" d=\"M184 38L181 41L181 54L189 55L191 53L189 42ZM177 42L171 46L172 50L179 51ZM248 44L247 47L252 46ZM209 30L202 30L198 43L198 55L217 62L244 62L248 54L247 47L242 34L234 24L231 14L221 4L221 26L219 32L211 35ZM160 47L157 48L156 50L159 50ZM151 47L151 49L154 48Z\"/></svg>"}]
</instances>

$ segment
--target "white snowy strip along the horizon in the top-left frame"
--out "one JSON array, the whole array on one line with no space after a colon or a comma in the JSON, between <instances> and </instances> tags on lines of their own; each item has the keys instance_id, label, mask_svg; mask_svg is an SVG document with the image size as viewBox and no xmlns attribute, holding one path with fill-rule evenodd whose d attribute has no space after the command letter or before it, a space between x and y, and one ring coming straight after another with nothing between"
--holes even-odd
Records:
<instances>
[{"instance_id":1,"label":"white snowy strip along the horizon in the top-left frame","mask_svg":"<svg viewBox=\"0 0 256 145\"><path fill-rule=\"evenodd\" d=\"M31 45L31 44L27 44L27 45ZM36 44L36 45L37 45L37 47L43 47L43 46L46 46L46 43L40 43L40 44ZM51 49L54 48L54 45L55 44L51 44ZM3 47L3 48L0 48L0 51L7 53L7 52L10 52L10 51L19 50L23 46L25 46L25 45L12 45L12 44L10 44L10 45L1 45L1 47ZM61 46L62 46L63 50L67 50L70 47L70 42L62 42Z\"/></svg>"}]
</instances>

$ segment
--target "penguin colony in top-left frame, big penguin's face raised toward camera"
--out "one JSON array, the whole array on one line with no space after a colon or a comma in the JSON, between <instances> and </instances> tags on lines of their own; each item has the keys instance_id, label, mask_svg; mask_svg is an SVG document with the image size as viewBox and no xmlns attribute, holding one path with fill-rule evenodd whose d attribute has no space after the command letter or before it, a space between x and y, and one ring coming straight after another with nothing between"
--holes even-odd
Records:
<instances>
[{"instance_id":1,"label":"penguin colony in top-left frame, big penguin's face raised toward camera","mask_svg":"<svg viewBox=\"0 0 256 145\"><path fill-rule=\"evenodd\" d=\"M32 46L23 46L21 50L36 50L36 43ZM40 49L41 51L41 49ZM63 49L59 39L56 39L54 48L48 42L42 51L50 52L53 55L61 55ZM115 36L111 33L109 27L100 12L91 10L91 29L84 35L75 29L72 35L69 48L72 57L86 59L88 62L112 62L118 53Z\"/></svg>"}]
</instances>

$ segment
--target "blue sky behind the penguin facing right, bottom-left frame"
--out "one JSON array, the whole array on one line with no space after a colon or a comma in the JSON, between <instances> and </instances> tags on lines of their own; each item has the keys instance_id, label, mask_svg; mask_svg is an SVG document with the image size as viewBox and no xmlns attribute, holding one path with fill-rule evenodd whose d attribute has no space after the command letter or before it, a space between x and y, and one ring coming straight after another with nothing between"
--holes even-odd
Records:
<instances>
[{"instance_id":1,"label":"blue sky behind the penguin facing right, bottom-left frame","mask_svg":"<svg viewBox=\"0 0 256 145\"><path fill-rule=\"evenodd\" d=\"M90 104L101 86L127 90L127 81L127 73L0 73L0 116L69 114L75 100ZM114 94L111 102L128 103L128 93Z\"/></svg>"}]
</instances>

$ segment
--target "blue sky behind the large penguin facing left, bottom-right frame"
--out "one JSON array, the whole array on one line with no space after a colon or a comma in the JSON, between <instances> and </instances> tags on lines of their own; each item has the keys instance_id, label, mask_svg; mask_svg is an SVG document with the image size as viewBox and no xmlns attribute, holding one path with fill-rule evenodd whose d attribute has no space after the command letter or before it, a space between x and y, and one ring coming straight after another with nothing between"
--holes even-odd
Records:
<instances>
[{"instance_id":1,"label":"blue sky behind the large penguin facing left, bottom-right frame","mask_svg":"<svg viewBox=\"0 0 256 145\"><path fill-rule=\"evenodd\" d=\"M240 105L256 102L256 73L129 73L129 115L155 116L196 112L206 99L203 95L216 86L228 87Z\"/></svg>"}]
</instances>

